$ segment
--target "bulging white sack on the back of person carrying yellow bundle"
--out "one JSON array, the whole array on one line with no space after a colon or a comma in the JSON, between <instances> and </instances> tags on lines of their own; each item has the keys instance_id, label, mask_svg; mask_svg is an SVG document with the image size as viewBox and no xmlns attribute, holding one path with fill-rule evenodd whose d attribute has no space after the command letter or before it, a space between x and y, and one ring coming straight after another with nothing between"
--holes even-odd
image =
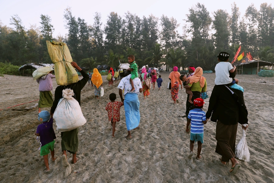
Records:
<instances>
[{"instance_id":1,"label":"bulging white sack on the back of person carrying yellow bundle","mask_svg":"<svg viewBox=\"0 0 274 183\"><path fill-rule=\"evenodd\" d=\"M53 119L58 131L71 131L86 123L81 107L73 95L72 89L63 90L63 98L59 100L54 111Z\"/></svg>"}]
</instances>

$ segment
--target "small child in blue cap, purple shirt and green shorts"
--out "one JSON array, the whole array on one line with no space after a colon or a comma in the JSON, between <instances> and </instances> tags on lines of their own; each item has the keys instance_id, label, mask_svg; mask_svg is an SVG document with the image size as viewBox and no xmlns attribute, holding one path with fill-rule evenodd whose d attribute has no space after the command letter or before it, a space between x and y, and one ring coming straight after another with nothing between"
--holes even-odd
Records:
<instances>
[{"instance_id":1,"label":"small child in blue cap, purple shirt and green shorts","mask_svg":"<svg viewBox=\"0 0 274 183\"><path fill-rule=\"evenodd\" d=\"M38 120L42 122L37 127L34 135L40 136L41 142L41 151L40 155L43 156L44 162L46 165L45 172L49 172L48 166L48 153L51 151L51 160L55 161L54 158L54 139L56 138L54 130L53 130L53 119L49 112L43 110L38 114Z\"/></svg>"}]
</instances>

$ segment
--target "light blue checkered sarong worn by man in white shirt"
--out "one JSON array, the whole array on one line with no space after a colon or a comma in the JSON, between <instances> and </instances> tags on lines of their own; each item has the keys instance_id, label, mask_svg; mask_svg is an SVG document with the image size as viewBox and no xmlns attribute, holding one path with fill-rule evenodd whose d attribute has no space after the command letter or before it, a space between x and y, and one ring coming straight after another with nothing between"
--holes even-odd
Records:
<instances>
[{"instance_id":1,"label":"light blue checkered sarong worn by man in white shirt","mask_svg":"<svg viewBox=\"0 0 274 183\"><path fill-rule=\"evenodd\" d=\"M124 100L125 118L127 129L133 130L140 123L140 102L136 93L126 93Z\"/></svg>"}]
</instances>

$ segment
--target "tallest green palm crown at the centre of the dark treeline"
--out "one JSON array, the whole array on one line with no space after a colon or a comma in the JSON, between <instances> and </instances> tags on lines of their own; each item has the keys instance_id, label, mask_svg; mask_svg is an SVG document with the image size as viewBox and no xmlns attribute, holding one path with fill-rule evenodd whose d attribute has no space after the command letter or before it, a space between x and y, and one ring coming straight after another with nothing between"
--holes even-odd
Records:
<instances>
[{"instance_id":1,"label":"tallest green palm crown at the centre of the dark treeline","mask_svg":"<svg viewBox=\"0 0 274 183\"><path fill-rule=\"evenodd\" d=\"M149 63L153 63L154 66L160 66L160 60L163 57L163 51L160 44L156 43L153 49L146 51L145 54L149 55L149 57L145 59L145 62L149 61Z\"/></svg>"}]
</instances>

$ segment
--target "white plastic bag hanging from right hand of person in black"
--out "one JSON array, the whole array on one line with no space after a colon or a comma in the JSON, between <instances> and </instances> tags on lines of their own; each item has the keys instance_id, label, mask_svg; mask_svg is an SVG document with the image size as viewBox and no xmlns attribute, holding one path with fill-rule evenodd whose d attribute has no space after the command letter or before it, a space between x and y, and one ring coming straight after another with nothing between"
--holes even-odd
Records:
<instances>
[{"instance_id":1,"label":"white plastic bag hanging from right hand of person in black","mask_svg":"<svg viewBox=\"0 0 274 183\"><path fill-rule=\"evenodd\" d=\"M247 145L245 136L246 136L246 130L243 130L243 137L241 138L240 142L236 146L235 156L238 160L248 162L250 153L248 150L248 145Z\"/></svg>"}]
</instances>

